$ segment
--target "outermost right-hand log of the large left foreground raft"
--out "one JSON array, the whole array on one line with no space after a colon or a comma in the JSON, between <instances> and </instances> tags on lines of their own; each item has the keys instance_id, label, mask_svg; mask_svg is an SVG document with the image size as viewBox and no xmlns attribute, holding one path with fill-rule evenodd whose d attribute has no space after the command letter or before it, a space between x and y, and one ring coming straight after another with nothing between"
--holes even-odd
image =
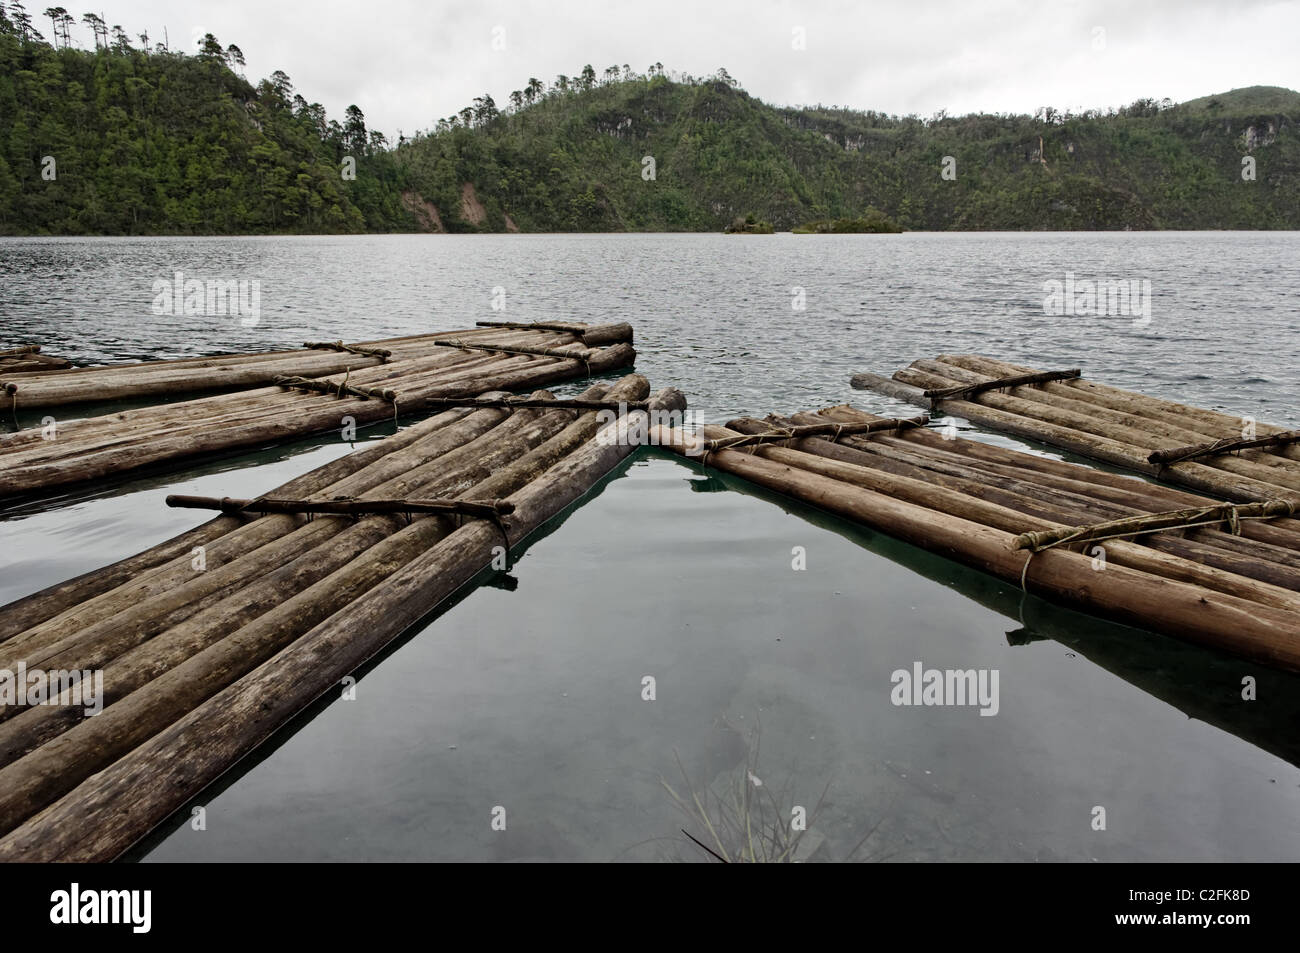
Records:
<instances>
[{"instance_id":1,"label":"outermost right-hand log of the large left foreground raft","mask_svg":"<svg viewBox=\"0 0 1300 953\"><path fill-rule=\"evenodd\" d=\"M671 406L680 400L680 395L663 394L660 399ZM575 421L572 426L584 423ZM625 436L628 417L611 426L621 428ZM529 482L508 497L516 504L512 541L521 540L572 503L632 451L634 441L620 442L616 438L619 434L614 436L608 441L586 439L563 459L541 465L541 476L537 476L536 460L519 471L517 478ZM491 491L498 493L499 489L498 485ZM433 521L422 520L411 529ZM192 706L178 722L156 732L98 776L42 810L0 841L0 858L108 859L118 855L321 692L337 684L342 675L355 671L356 666L486 566L499 541L491 533L478 533L477 525L468 524L455 530L381 585L317 623L260 668ZM187 684L178 681L178 688ZM274 690L268 693L268 685L274 685ZM257 701L252 702L254 698ZM131 698L127 698L118 705L130 703ZM100 722L116 707L94 720ZM203 738L198 745L192 741L196 735ZM29 758L36 754L39 751ZM21 802L21 796L16 798L10 794L4 800L6 805ZM74 826L60 822L49 827L49 822L62 816L64 811L81 820ZM96 822L96 818L108 815L114 818L114 823ZM70 836L73 827L77 836ZM43 836L44 832L51 836Z\"/></svg>"}]
</instances>

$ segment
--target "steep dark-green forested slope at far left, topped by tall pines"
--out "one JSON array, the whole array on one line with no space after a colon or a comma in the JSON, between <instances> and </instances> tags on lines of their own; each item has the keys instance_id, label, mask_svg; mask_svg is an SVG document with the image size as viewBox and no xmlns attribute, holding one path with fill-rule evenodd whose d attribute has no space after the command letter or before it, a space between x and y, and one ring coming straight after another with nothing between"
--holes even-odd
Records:
<instances>
[{"instance_id":1,"label":"steep dark-green forested slope at far left, topped by tall pines","mask_svg":"<svg viewBox=\"0 0 1300 953\"><path fill-rule=\"evenodd\" d=\"M238 47L139 47L95 14L95 49L46 12L0 3L0 234L235 234L413 229L399 173L355 107L344 124L283 73L252 86ZM344 178L344 159L355 178Z\"/></svg>"}]
</instances>

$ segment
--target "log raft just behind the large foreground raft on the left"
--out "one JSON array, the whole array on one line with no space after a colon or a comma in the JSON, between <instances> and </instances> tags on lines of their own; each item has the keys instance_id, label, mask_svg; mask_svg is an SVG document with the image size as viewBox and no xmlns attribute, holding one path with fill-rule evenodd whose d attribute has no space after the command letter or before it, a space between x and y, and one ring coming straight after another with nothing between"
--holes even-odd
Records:
<instances>
[{"instance_id":1,"label":"log raft just behind the large foreground raft on the left","mask_svg":"<svg viewBox=\"0 0 1300 953\"><path fill-rule=\"evenodd\" d=\"M603 374L636 359L629 343L588 348L567 332L452 333L472 347L433 346L445 337L422 356L400 358L391 342L394 355L384 363L347 354L374 364L342 374L276 377L268 387L0 434L0 498L442 410L485 391ZM22 391L18 399L21 406Z\"/></svg>"}]
</instances>

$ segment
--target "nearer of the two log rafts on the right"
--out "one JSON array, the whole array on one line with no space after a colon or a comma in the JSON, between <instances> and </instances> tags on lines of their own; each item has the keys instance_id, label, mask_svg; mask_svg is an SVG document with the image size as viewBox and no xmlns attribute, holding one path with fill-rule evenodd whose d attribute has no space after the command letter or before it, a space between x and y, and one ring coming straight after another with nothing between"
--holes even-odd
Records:
<instances>
[{"instance_id":1,"label":"nearer of the two log rafts on the right","mask_svg":"<svg viewBox=\"0 0 1300 953\"><path fill-rule=\"evenodd\" d=\"M868 426L884 421L841 406L698 434L660 426L651 443L1028 593L1300 671L1292 501L1230 506L935 429Z\"/></svg>"}]
</instances>

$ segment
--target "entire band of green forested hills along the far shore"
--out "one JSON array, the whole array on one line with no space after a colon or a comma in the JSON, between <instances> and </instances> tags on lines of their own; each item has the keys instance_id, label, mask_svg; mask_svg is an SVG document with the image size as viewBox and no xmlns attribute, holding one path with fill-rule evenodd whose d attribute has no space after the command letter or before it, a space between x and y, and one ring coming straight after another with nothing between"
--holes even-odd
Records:
<instances>
[{"instance_id":1,"label":"entire band of green forested hills along the far shore","mask_svg":"<svg viewBox=\"0 0 1300 953\"><path fill-rule=\"evenodd\" d=\"M78 49L61 9L47 42L0 0L0 234L789 229L870 208L907 229L1300 228L1300 94L1278 87L922 120L586 66L390 144L283 73L248 82L214 36L182 55L86 14Z\"/></svg>"}]
</instances>

